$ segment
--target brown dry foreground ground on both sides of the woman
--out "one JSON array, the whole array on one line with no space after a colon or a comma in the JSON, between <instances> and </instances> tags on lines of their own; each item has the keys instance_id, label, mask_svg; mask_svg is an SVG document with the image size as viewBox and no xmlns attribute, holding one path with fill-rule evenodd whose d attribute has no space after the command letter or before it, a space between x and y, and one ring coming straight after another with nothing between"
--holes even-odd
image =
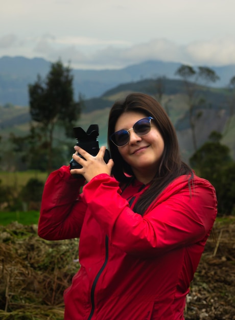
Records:
<instances>
[{"instance_id":1,"label":"brown dry foreground ground on both sides of the woman","mask_svg":"<svg viewBox=\"0 0 235 320\"><path fill-rule=\"evenodd\" d=\"M0 226L0 319L63 319L79 268L78 239L45 241L37 226ZM218 219L187 296L185 320L235 320L235 217Z\"/></svg>"}]
</instances>

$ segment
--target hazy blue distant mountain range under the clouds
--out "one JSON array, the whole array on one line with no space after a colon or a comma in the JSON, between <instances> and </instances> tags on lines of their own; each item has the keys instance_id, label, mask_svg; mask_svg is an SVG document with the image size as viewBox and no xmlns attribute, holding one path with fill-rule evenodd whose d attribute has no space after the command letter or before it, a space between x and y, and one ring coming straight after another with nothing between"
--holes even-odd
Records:
<instances>
[{"instance_id":1,"label":"hazy blue distant mountain range under the clouds","mask_svg":"<svg viewBox=\"0 0 235 320\"><path fill-rule=\"evenodd\" d=\"M145 61L120 70L78 70L73 69L75 98L81 93L86 99L100 97L107 90L122 83L144 79L167 77L177 79L175 71L181 65L176 62ZM37 75L42 78L48 74L51 62L42 58L25 57L0 58L0 105L11 103L27 106L29 104L28 85L34 83ZM217 87L227 86L235 75L235 64L211 67L219 76Z\"/></svg>"}]
</instances>

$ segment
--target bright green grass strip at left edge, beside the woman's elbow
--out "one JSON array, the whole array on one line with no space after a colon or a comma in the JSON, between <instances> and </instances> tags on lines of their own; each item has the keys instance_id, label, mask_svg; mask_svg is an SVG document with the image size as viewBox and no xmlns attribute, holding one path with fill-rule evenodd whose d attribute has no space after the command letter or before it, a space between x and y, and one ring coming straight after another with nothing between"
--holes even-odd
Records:
<instances>
[{"instance_id":1,"label":"bright green grass strip at left edge, beside the woman's elbow","mask_svg":"<svg viewBox=\"0 0 235 320\"><path fill-rule=\"evenodd\" d=\"M23 225L38 224L39 212L0 212L0 225L8 225L17 221Z\"/></svg>"}]
</instances>

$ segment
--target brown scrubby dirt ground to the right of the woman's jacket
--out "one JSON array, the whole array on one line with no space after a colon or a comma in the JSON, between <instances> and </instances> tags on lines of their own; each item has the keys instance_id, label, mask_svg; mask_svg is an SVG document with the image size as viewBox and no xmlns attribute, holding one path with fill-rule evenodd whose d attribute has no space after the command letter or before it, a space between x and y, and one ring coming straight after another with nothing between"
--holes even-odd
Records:
<instances>
[{"instance_id":1,"label":"brown scrubby dirt ground to the right of the woman's jacket","mask_svg":"<svg viewBox=\"0 0 235 320\"><path fill-rule=\"evenodd\" d=\"M235 319L234 217L218 219L206 243L187 296L189 319Z\"/></svg>"}]
</instances>

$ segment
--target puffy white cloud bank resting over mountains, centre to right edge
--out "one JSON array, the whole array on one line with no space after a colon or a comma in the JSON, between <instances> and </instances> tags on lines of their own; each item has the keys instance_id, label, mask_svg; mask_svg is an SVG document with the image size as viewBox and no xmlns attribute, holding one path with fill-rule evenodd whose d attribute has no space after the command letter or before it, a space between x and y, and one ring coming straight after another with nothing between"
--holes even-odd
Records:
<instances>
[{"instance_id":1,"label":"puffy white cloud bank resting over mountains, centre to right edge","mask_svg":"<svg viewBox=\"0 0 235 320\"><path fill-rule=\"evenodd\" d=\"M81 65L86 62L90 67L100 65L102 68L119 68L146 60L162 60L215 66L235 64L235 56L232 55L234 50L235 41L232 39L198 41L189 45L177 45L166 39L153 39L127 48L109 46L82 57L76 55L74 48L72 63Z\"/></svg>"}]
</instances>

